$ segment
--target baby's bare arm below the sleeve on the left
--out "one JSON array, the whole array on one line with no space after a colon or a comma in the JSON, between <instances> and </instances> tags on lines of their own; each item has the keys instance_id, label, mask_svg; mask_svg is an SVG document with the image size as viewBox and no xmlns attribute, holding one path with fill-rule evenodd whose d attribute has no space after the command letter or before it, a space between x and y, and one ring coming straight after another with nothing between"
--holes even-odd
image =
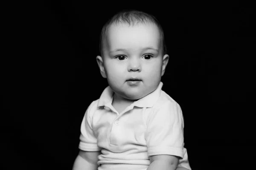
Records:
<instances>
[{"instance_id":1,"label":"baby's bare arm below the sleeve on the left","mask_svg":"<svg viewBox=\"0 0 256 170\"><path fill-rule=\"evenodd\" d=\"M100 151L87 152L80 150L74 162L73 170L97 170L99 154L101 154Z\"/></svg>"}]
</instances>

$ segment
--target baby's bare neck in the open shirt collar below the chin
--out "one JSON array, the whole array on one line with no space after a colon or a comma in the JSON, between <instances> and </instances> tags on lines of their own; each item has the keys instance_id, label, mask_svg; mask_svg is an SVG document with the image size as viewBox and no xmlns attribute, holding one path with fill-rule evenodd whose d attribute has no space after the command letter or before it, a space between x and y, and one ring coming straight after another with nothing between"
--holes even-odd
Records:
<instances>
[{"instance_id":1,"label":"baby's bare neck in the open shirt collar below the chin","mask_svg":"<svg viewBox=\"0 0 256 170\"><path fill-rule=\"evenodd\" d=\"M116 109L116 111L118 111L118 113L121 113L122 111L125 110L125 108L130 106L135 101L136 100L125 99L122 96L114 94L112 106Z\"/></svg>"}]
</instances>

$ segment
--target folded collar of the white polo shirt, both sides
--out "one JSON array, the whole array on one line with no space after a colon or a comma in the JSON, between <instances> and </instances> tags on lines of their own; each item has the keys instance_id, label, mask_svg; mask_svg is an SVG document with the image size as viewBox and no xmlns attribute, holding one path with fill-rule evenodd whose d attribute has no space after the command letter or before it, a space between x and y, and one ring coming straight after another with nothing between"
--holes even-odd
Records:
<instances>
[{"instance_id":1,"label":"folded collar of the white polo shirt, both sides","mask_svg":"<svg viewBox=\"0 0 256 170\"><path fill-rule=\"evenodd\" d=\"M137 100L132 105L140 108L152 108L154 103L157 101L158 97L160 96L162 87L163 87L163 82L160 82L156 90L154 90L147 96ZM99 98L98 107L105 106L105 105L112 105L112 101L113 101L113 91L110 88L110 86L108 86L107 88L105 88L105 90L102 92Z\"/></svg>"}]
</instances>

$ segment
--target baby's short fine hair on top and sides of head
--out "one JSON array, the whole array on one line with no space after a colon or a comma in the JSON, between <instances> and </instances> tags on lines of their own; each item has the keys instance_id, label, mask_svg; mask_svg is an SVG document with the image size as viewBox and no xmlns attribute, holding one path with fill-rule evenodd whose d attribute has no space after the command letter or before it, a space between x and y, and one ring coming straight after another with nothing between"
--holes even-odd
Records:
<instances>
[{"instance_id":1,"label":"baby's short fine hair on top and sides of head","mask_svg":"<svg viewBox=\"0 0 256 170\"><path fill-rule=\"evenodd\" d=\"M99 40L99 52L102 55L102 46L103 46L103 40L106 37L106 33L108 31L108 29L110 28L111 25L113 24L120 24L120 23L126 23L129 26L134 26L136 24L139 23L152 23L155 26L157 26L157 28L160 31L160 38L162 41L162 45L163 45L163 54L167 54L167 48L166 48L166 43L164 40L164 33L163 33L163 28L160 25L159 21L156 19L156 17L154 17L151 14L147 14L143 11L137 11L137 10L124 10L124 11L120 11L117 14L115 14L113 17L111 17L110 20L108 20L107 23L105 23L105 25L102 27L102 31L100 34L100 40Z\"/></svg>"}]
</instances>

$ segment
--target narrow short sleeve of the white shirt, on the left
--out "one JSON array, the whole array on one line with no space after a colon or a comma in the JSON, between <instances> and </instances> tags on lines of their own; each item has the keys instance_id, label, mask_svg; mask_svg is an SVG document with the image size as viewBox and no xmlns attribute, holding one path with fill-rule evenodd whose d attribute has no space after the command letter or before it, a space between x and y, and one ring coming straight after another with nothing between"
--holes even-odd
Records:
<instances>
[{"instance_id":1,"label":"narrow short sleeve of the white shirt, on the left","mask_svg":"<svg viewBox=\"0 0 256 170\"><path fill-rule=\"evenodd\" d=\"M97 138L94 136L92 128L92 116L95 112L96 105L92 102L87 108L84 118L81 123L81 135L79 149L84 151L99 151L100 147L97 146Z\"/></svg>"}]
</instances>

